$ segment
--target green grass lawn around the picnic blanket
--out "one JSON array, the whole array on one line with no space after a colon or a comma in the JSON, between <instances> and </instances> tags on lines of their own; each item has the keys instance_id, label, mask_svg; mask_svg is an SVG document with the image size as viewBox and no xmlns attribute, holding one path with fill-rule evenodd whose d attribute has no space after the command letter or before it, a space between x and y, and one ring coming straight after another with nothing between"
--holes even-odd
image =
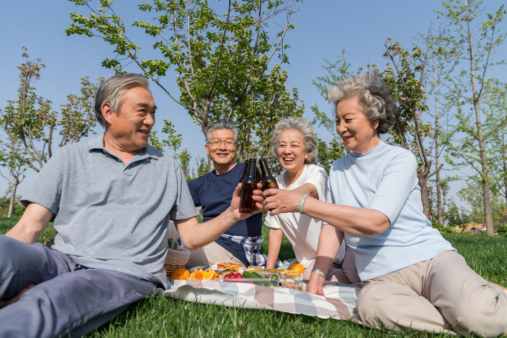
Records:
<instances>
[{"instance_id":1,"label":"green grass lawn around the picnic blanket","mask_svg":"<svg viewBox=\"0 0 507 338\"><path fill-rule=\"evenodd\" d=\"M17 219L0 217L0 233L5 234ZM50 225L42 237L50 237ZM268 229L263 227L267 251ZM487 280L507 286L507 238L483 235L445 234L468 265ZM284 238L280 259L294 257ZM349 321L319 319L267 310L245 310L195 304L178 299L147 297L131 305L110 324L86 337L421 337L425 334L395 334L370 329ZM454 337L452 335L439 335Z\"/></svg>"}]
</instances>

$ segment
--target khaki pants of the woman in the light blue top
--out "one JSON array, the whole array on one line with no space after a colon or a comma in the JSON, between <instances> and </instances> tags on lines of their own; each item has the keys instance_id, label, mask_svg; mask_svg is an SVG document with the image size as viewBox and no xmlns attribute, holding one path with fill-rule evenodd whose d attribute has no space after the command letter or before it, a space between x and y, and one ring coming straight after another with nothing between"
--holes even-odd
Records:
<instances>
[{"instance_id":1,"label":"khaki pants of the woman in the light blue top","mask_svg":"<svg viewBox=\"0 0 507 338\"><path fill-rule=\"evenodd\" d=\"M455 251L363 282L361 320L394 331L486 337L507 330L507 293L470 269Z\"/></svg>"}]
</instances>

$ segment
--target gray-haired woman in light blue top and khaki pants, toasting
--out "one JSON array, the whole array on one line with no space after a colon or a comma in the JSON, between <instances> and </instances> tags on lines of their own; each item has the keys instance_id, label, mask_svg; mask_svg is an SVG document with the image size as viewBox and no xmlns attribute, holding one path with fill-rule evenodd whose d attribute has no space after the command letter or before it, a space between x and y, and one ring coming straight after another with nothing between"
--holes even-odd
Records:
<instances>
[{"instance_id":1,"label":"gray-haired woman in light blue top and khaki pants, toasting","mask_svg":"<svg viewBox=\"0 0 507 338\"><path fill-rule=\"evenodd\" d=\"M470 269L422 210L417 159L379 135L396 107L378 74L333 87L336 130L350 154L330 170L326 202L296 192L265 191L270 214L299 212L324 221L307 291L323 281L345 237L363 288L357 312L371 326L496 336L507 330L507 293Z\"/></svg>"}]
</instances>

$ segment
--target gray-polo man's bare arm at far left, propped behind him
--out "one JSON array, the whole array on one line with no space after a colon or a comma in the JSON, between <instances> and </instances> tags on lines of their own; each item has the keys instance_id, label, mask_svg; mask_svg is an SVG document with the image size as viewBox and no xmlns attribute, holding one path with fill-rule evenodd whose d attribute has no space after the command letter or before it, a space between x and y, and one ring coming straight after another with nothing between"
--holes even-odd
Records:
<instances>
[{"instance_id":1,"label":"gray-polo man's bare arm at far left, propped behind him","mask_svg":"<svg viewBox=\"0 0 507 338\"><path fill-rule=\"evenodd\" d=\"M53 215L48 208L37 203L30 203L19 222L5 235L33 244L37 242Z\"/></svg>"}]
</instances>

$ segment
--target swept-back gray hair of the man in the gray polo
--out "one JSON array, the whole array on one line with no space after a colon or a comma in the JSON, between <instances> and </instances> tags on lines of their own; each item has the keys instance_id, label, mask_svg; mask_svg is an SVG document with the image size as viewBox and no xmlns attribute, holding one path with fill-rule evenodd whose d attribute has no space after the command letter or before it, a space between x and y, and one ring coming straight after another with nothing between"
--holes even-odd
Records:
<instances>
[{"instance_id":1,"label":"swept-back gray hair of the man in the gray polo","mask_svg":"<svg viewBox=\"0 0 507 338\"><path fill-rule=\"evenodd\" d=\"M101 109L102 104L109 103L111 110L118 115L120 114L125 92L137 87L149 90L150 82L141 74L126 73L116 74L102 83L97 90L97 94L95 94L95 117L102 127L105 127Z\"/></svg>"}]
</instances>

